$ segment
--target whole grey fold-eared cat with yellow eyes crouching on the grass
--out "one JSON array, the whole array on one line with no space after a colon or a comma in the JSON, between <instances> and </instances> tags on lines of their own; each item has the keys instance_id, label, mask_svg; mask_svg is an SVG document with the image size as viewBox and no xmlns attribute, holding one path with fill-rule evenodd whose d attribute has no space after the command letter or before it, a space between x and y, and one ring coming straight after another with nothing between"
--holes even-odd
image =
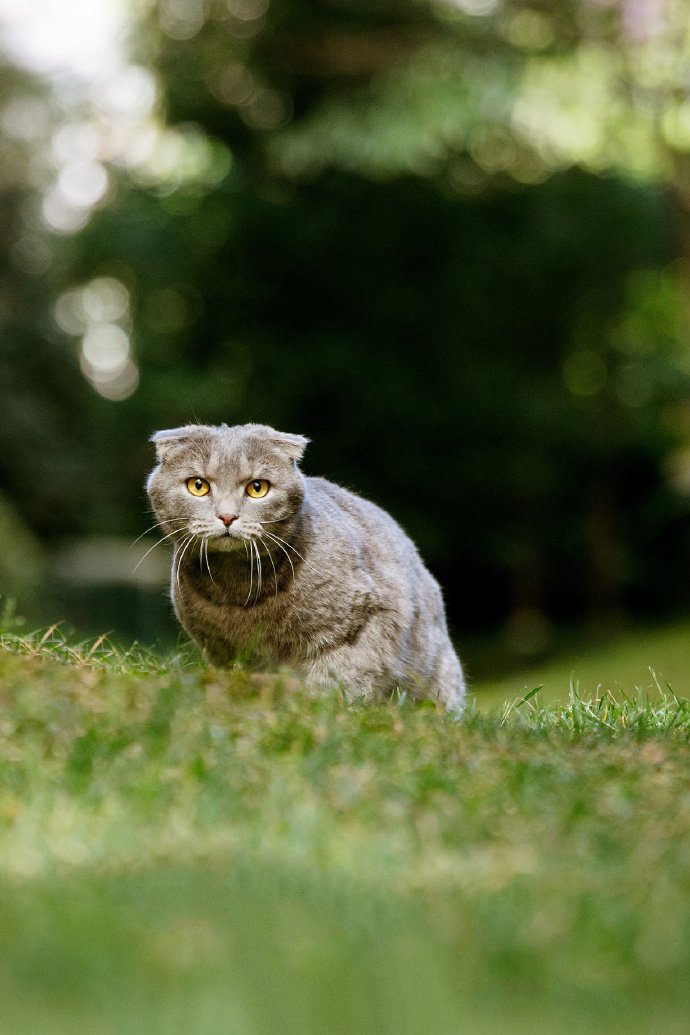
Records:
<instances>
[{"instance_id":1,"label":"whole grey fold-eared cat with yellow eyes crouching on the grass","mask_svg":"<svg viewBox=\"0 0 690 1035\"><path fill-rule=\"evenodd\" d=\"M152 441L147 490L174 546L173 604L214 662L252 649L350 697L400 688L460 710L438 584L389 514L300 472L307 439L189 424Z\"/></svg>"}]
</instances>

